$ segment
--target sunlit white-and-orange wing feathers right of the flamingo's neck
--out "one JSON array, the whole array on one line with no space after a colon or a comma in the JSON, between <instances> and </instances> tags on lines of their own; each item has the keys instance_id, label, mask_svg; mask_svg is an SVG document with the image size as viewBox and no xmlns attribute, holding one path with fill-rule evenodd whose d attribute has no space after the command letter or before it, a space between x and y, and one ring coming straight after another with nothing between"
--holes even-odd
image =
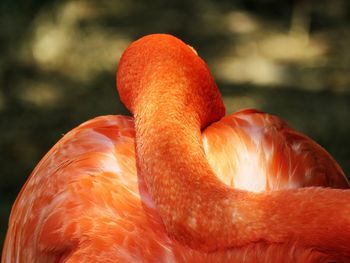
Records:
<instances>
[{"instance_id":1,"label":"sunlit white-and-orange wing feathers right of the flamingo's neck","mask_svg":"<svg viewBox=\"0 0 350 263\"><path fill-rule=\"evenodd\" d=\"M217 176L232 187L259 192L349 186L326 150L273 115L234 113L208 127L203 141Z\"/></svg>"}]
</instances>

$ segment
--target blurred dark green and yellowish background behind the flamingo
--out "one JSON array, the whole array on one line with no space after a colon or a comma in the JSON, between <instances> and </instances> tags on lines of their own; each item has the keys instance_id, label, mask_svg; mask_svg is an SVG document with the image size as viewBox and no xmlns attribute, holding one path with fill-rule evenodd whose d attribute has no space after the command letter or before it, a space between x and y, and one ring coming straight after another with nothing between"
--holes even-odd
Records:
<instances>
[{"instance_id":1,"label":"blurred dark green and yellowish background behind the flamingo","mask_svg":"<svg viewBox=\"0 0 350 263\"><path fill-rule=\"evenodd\" d=\"M123 49L171 33L207 61L228 112L277 114L350 174L350 1L171 0L0 3L0 245L10 208L64 133L126 114Z\"/></svg>"}]
</instances>

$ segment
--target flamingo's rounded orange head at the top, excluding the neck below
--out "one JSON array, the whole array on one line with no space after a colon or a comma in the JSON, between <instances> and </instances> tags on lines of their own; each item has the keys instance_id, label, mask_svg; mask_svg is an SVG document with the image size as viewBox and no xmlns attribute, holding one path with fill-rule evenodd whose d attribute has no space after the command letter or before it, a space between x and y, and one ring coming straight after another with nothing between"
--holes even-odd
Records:
<instances>
[{"instance_id":1,"label":"flamingo's rounded orange head at the top, excluding the neck below","mask_svg":"<svg viewBox=\"0 0 350 263\"><path fill-rule=\"evenodd\" d=\"M202 127L225 114L221 94L205 62L192 47L171 35L148 35L133 42L120 59L117 89L132 113L146 93L159 91L168 94L162 96L165 99L183 95L199 114Z\"/></svg>"}]
</instances>

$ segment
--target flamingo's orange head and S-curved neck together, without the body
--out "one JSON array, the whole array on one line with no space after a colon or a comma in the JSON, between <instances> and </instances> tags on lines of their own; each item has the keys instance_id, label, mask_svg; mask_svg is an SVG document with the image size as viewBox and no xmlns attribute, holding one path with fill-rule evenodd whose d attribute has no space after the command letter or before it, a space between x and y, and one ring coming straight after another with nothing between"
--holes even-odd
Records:
<instances>
[{"instance_id":1,"label":"flamingo's orange head and S-curved neck together, without the body","mask_svg":"<svg viewBox=\"0 0 350 263\"><path fill-rule=\"evenodd\" d=\"M200 131L225 110L208 68L187 45L168 35L144 37L125 51L117 75L135 117L138 172L171 236L209 251L296 242L350 257L349 191L255 194L216 178Z\"/></svg>"}]
</instances>

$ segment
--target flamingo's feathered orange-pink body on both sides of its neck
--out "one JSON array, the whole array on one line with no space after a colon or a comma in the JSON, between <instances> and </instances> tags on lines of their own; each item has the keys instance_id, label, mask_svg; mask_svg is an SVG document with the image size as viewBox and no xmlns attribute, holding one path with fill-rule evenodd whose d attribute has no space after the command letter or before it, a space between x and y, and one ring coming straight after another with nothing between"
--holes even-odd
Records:
<instances>
[{"instance_id":1,"label":"flamingo's feathered orange-pink body on both sides of its neck","mask_svg":"<svg viewBox=\"0 0 350 263\"><path fill-rule=\"evenodd\" d=\"M269 129L262 128L264 123ZM137 176L134 136L133 119L124 116L98 117L66 134L38 164L14 205L3 262L222 262L244 257L252 262L248 259L263 260L265 254L277 260L278 253L284 259L292 253L293 260L298 256L324 257L294 244L262 243L203 253L171 240L143 180ZM289 137L290 146L274 139L279 136L284 142ZM322 148L268 114L232 114L204 130L202 138L209 163L219 179L231 187L265 191L347 186L341 170ZM299 151L294 144L300 145ZM232 149L234 145L239 147ZM259 153L264 145L270 149ZM288 160L300 160L294 166L300 172L283 164L278 176L261 172L280 163L275 160L280 158L279 147L289 151ZM314 152L325 167L318 173L308 172L320 167L310 161L313 156L308 155ZM252 163L246 158L253 155ZM327 169L337 171L333 178L324 177ZM258 176L245 180L248 170ZM313 178L300 178L300 174Z\"/></svg>"}]
</instances>

